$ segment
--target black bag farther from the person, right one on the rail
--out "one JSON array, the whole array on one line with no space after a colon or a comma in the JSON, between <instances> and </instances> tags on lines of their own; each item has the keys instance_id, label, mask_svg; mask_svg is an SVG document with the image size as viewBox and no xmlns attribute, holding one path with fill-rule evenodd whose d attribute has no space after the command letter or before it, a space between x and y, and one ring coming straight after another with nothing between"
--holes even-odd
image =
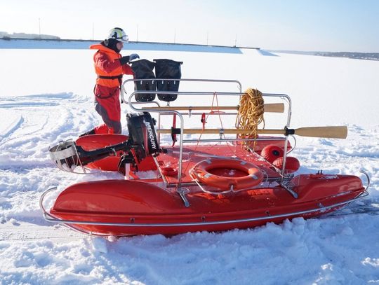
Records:
<instances>
[{"instance_id":1,"label":"black bag farther from the person, right one on the rail","mask_svg":"<svg viewBox=\"0 0 379 285\"><path fill-rule=\"evenodd\" d=\"M182 71L180 64L174 60L154 60L155 76L159 79L180 79ZM158 91L178 91L180 81L159 80L157 82ZM177 94L159 94L158 98L165 102L174 101L178 97Z\"/></svg>"}]
</instances>

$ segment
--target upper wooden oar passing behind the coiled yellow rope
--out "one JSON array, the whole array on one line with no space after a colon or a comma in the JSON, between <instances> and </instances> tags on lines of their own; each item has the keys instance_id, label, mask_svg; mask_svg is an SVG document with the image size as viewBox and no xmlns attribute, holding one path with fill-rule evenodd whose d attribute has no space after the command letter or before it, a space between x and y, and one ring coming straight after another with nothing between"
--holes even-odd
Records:
<instances>
[{"instance_id":1,"label":"upper wooden oar passing behind the coiled yellow rope","mask_svg":"<svg viewBox=\"0 0 379 285\"><path fill-rule=\"evenodd\" d=\"M238 106L161 106L161 107L142 107L143 110L161 110L161 111L183 111L183 110L238 110ZM283 103L264 104L265 112L283 113Z\"/></svg>"}]
</instances>

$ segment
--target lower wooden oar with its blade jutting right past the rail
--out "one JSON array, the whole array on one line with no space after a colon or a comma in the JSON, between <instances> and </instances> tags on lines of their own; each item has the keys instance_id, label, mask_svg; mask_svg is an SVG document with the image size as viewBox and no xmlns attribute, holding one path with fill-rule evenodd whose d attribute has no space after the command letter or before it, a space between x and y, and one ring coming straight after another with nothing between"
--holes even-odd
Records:
<instances>
[{"instance_id":1,"label":"lower wooden oar with its blade jutting right past the rail","mask_svg":"<svg viewBox=\"0 0 379 285\"><path fill-rule=\"evenodd\" d=\"M180 129L158 129L159 134L180 134ZM184 129L184 134L244 134L253 132L253 130L241 130L241 129ZM284 129L284 130L265 130L258 129L258 134L296 134L300 137L325 137L331 139L346 139L347 127L346 126L334 126L334 127L300 127L298 129Z\"/></svg>"}]
</instances>

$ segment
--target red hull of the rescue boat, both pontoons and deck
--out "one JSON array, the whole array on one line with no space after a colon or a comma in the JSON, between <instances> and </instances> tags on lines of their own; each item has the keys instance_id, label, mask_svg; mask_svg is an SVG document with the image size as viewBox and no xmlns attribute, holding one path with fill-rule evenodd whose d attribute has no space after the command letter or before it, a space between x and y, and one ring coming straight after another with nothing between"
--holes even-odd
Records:
<instances>
[{"instance_id":1,"label":"red hull of the rescue boat, both pontoons and deck","mask_svg":"<svg viewBox=\"0 0 379 285\"><path fill-rule=\"evenodd\" d=\"M78 139L77 144L90 151L126 139L123 135L93 135ZM283 143L268 140L259 147L273 142ZM251 162L264 179L251 186L247 181L243 189L226 187L225 191L224 187L194 178L191 169L201 163L212 165L213 160L220 162L220 158L224 158L225 165L214 163L217 169L213 169L213 174L222 175L226 181L256 176L245 174L245 166L234 169L231 165L235 162ZM233 163L228 164L228 159ZM45 214L55 222L91 235L176 235L251 228L268 222L281 223L286 218L314 218L340 209L365 190L357 176L300 174L282 181L274 165L241 145L186 146L182 148L181 165L179 161L178 147L167 148L156 158L148 156L142 160L138 164L140 172L131 169L126 175L133 180L74 184L60 193ZM118 163L119 157L113 156L93 162L91 167L116 171ZM146 178L140 176L142 173L153 175ZM178 193L178 188L183 192Z\"/></svg>"}]
</instances>

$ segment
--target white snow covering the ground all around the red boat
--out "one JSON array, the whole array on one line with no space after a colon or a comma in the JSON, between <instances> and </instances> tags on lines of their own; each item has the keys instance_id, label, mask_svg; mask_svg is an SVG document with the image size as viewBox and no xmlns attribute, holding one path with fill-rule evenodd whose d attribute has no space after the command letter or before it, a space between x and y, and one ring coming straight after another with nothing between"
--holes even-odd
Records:
<instances>
[{"instance_id":1,"label":"white snow covering the ground all around the red boat","mask_svg":"<svg viewBox=\"0 0 379 285\"><path fill-rule=\"evenodd\" d=\"M243 90L290 95L291 127L347 125L346 140L297 137L291 155L302 173L323 169L355 174L366 183L359 170L368 172L371 195L363 202L378 206L379 62L250 49L133 47L141 58L184 62L182 78L237 79ZM48 157L48 146L100 122L93 108L92 56L93 50L46 46L0 49L0 284L379 283L379 222L370 214L121 239L87 237L44 221L39 197L51 186L58 195L79 181L122 179L115 173L68 174ZM180 86L237 91L235 84ZM122 111L128 112L125 104Z\"/></svg>"}]
</instances>

